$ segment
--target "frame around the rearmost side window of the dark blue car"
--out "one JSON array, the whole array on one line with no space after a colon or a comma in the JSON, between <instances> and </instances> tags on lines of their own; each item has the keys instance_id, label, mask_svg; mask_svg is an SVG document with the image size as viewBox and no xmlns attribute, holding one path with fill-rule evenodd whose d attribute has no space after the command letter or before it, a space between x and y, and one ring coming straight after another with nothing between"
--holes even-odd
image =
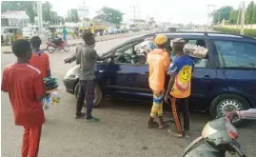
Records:
<instances>
[{"instance_id":1,"label":"frame around the rearmost side window of the dark blue car","mask_svg":"<svg viewBox=\"0 0 256 157\"><path fill-rule=\"evenodd\" d=\"M243 70L255 70L256 68L226 68L226 67L221 67L221 61L219 59L219 54L218 54L218 51L217 51L217 47L216 47L216 44L215 42L216 41L223 41L223 42L234 42L234 43L246 43L246 44L251 44L251 45L254 45L256 47L256 43L254 42L249 42L249 41L246 41L246 40L227 40L227 39L212 39L212 45L213 45L213 50L214 50L214 53L216 55L216 59L215 59L215 65L216 65L216 69L243 69Z\"/></svg>"}]
</instances>

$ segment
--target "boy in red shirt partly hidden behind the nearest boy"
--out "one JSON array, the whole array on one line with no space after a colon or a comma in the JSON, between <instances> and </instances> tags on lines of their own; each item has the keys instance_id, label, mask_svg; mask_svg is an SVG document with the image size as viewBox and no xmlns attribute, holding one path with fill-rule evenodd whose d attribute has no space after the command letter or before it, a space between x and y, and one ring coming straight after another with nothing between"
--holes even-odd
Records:
<instances>
[{"instance_id":1,"label":"boy in red shirt partly hidden behind the nearest boy","mask_svg":"<svg viewBox=\"0 0 256 157\"><path fill-rule=\"evenodd\" d=\"M40 50L41 39L39 36L33 36L30 39L32 45L32 56L30 58L30 65L42 72L43 78L50 76L49 70L49 55Z\"/></svg>"}]
</instances>

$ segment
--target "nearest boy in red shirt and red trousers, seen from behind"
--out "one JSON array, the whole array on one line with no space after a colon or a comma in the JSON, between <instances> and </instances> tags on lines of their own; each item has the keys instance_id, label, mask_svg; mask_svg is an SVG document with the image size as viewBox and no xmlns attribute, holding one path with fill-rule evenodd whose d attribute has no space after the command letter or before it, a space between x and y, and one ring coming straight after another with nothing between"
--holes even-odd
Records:
<instances>
[{"instance_id":1,"label":"nearest boy in red shirt and red trousers, seen from behind","mask_svg":"<svg viewBox=\"0 0 256 157\"><path fill-rule=\"evenodd\" d=\"M31 46L27 40L17 40L11 46L17 63L3 70L1 90L8 92L15 125L24 127L22 157L37 157L45 115L41 101L46 89L39 69L29 64Z\"/></svg>"}]
</instances>

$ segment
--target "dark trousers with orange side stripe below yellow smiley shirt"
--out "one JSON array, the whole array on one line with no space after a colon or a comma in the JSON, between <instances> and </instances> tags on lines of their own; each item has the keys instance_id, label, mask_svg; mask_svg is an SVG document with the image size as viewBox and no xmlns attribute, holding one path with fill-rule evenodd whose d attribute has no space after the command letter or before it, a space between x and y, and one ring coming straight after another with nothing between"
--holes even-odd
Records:
<instances>
[{"instance_id":1,"label":"dark trousers with orange side stripe below yellow smiley shirt","mask_svg":"<svg viewBox=\"0 0 256 157\"><path fill-rule=\"evenodd\" d=\"M180 112L183 113L184 130L189 130L189 109L188 98L171 98L172 115L174 118L175 126L179 131L182 131Z\"/></svg>"}]
</instances>

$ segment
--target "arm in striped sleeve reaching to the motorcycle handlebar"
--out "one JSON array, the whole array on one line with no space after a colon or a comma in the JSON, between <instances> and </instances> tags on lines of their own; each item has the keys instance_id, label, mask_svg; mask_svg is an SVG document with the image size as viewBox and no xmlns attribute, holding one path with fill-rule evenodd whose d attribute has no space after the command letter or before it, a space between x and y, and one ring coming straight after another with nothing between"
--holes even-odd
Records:
<instances>
[{"instance_id":1,"label":"arm in striped sleeve reaching to the motorcycle handlebar","mask_svg":"<svg viewBox=\"0 0 256 157\"><path fill-rule=\"evenodd\" d=\"M256 120L256 108L250 108L247 110L230 111L226 113L228 119L238 117L239 119L254 119Z\"/></svg>"}]
</instances>

